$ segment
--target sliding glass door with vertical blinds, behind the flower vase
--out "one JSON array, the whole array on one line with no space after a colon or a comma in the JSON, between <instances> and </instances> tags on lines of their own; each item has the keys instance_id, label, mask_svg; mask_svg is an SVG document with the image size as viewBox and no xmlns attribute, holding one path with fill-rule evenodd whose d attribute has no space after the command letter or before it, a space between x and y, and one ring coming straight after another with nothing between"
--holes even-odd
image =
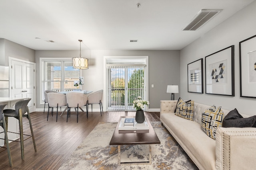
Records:
<instances>
[{"instance_id":1,"label":"sliding glass door with vertical blinds, behind the flower vase","mask_svg":"<svg viewBox=\"0 0 256 170\"><path fill-rule=\"evenodd\" d=\"M145 64L108 64L107 110L134 111L133 101L141 96L146 100Z\"/></svg>"}]
</instances>

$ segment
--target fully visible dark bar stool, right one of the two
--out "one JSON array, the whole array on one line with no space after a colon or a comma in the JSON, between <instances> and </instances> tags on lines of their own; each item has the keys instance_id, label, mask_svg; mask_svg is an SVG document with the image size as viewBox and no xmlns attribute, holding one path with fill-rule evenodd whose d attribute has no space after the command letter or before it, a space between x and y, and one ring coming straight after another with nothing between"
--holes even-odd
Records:
<instances>
[{"instance_id":1,"label":"fully visible dark bar stool, right one of the two","mask_svg":"<svg viewBox=\"0 0 256 170\"><path fill-rule=\"evenodd\" d=\"M36 152L36 142L35 142L34 133L33 133L33 129L32 129L30 113L28 110L28 102L30 100L31 100L31 98L29 98L27 100L19 100L15 104L15 110L13 110L13 109L5 109L4 110L4 116L6 117L6 127L7 127L6 129L8 129L8 117L15 117L16 119L19 120L20 133L17 133L17 134L20 134L20 141L15 141L15 142L20 142L22 160L24 160L24 138L23 138L23 135L25 135L25 134L23 134L22 117L26 117L29 121L31 135L26 135L26 136L29 136L28 138L32 137L33 144L34 144L34 150ZM27 114L25 114L25 113L27 113ZM12 133L14 133L14 132L12 132ZM10 140L10 141L12 141L12 140Z\"/></svg>"}]
</instances>

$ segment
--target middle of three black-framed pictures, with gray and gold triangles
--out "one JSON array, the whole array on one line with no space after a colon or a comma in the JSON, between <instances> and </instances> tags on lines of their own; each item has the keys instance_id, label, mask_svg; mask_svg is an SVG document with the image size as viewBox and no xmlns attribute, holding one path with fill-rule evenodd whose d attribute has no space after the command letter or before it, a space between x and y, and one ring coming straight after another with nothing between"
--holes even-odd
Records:
<instances>
[{"instance_id":1,"label":"middle of three black-framed pictures, with gray and gold triangles","mask_svg":"<svg viewBox=\"0 0 256 170\"><path fill-rule=\"evenodd\" d=\"M206 94L235 96L234 45L205 57Z\"/></svg>"}]
</instances>

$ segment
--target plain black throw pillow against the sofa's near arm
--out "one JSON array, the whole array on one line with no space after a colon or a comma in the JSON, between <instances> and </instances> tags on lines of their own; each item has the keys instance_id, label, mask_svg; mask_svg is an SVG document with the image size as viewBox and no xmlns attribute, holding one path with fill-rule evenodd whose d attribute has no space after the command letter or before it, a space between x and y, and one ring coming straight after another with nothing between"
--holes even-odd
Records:
<instances>
[{"instance_id":1,"label":"plain black throw pillow against the sofa's near arm","mask_svg":"<svg viewBox=\"0 0 256 170\"><path fill-rule=\"evenodd\" d=\"M222 127L256 127L256 115L244 118L235 108L223 119Z\"/></svg>"}]
</instances>

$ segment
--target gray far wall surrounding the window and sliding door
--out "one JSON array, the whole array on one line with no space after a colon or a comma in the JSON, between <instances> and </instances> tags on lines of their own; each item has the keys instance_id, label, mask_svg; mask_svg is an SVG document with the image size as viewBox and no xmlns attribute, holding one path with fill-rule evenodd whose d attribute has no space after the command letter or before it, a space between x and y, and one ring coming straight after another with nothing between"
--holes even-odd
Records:
<instances>
[{"instance_id":1,"label":"gray far wall surrounding the window and sliding door","mask_svg":"<svg viewBox=\"0 0 256 170\"><path fill-rule=\"evenodd\" d=\"M36 82L40 82L39 59L40 57L78 57L79 51L36 51ZM170 94L166 93L167 85L176 84L180 86L180 51L116 51L116 50L92 50L82 51L82 57L88 58L89 69L82 70L84 76L85 90L104 89L103 83L103 58L104 56L149 56L149 101L150 109L160 108L160 100L170 100ZM154 88L151 88L154 84ZM40 88L37 88L40 94ZM175 98L179 98L176 94ZM104 102L104 101L103 101ZM37 95L37 108L40 98Z\"/></svg>"}]
</instances>

